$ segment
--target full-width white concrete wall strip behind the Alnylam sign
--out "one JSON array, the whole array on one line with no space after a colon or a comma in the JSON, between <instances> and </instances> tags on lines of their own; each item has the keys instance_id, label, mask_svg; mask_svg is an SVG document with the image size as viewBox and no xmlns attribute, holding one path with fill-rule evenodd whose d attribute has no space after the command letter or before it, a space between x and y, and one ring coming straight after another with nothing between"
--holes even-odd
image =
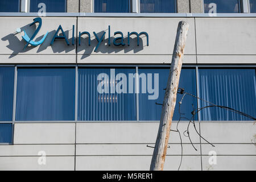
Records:
<instances>
[{"instance_id":1,"label":"full-width white concrete wall strip behind the Alnylam sign","mask_svg":"<svg viewBox=\"0 0 256 182\"><path fill-rule=\"evenodd\" d=\"M27 30L32 34L35 26L29 28L34 17L1 17L0 24L0 64L15 63L115 63L115 64L162 64L170 63L177 23L185 20L189 23L188 39L185 47L184 64L255 64L256 60L256 18L92 18L92 17L44 17L43 24L36 36L42 38L47 31L49 35L38 47L28 47L22 51L25 42L23 32L14 35L16 28ZM78 25L79 31L88 31L92 44L83 35L81 46L67 46L64 40L56 40L49 46L59 24L72 43L72 26ZM115 31L122 31L126 46L107 46L108 26L111 26L111 40ZM102 35L106 31L104 44L94 49L97 40L93 31ZM127 32L146 31L149 35L149 46L146 37L141 36L140 46L131 36L131 46L127 46ZM76 60L77 56L77 60Z\"/></svg>"}]
</instances>

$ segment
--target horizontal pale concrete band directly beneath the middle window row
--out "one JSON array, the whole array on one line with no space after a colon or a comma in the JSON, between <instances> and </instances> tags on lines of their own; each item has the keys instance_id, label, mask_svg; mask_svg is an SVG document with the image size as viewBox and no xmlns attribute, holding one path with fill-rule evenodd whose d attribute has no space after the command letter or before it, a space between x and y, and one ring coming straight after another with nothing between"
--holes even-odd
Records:
<instances>
[{"instance_id":1,"label":"horizontal pale concrete band directly beneath the middle window row","mask_svg":"<svg viewBox=\"0 0 256 182\"><path fill-rule=\"evenodd\" d=\"M172 123L176 130L177 123ZM188 123L179 123L183 143L191 143L182 133ZM199 123L196 129L211 143L253 143L253 123ZM75 144L75 143L155 143L159 123L15 123L14 144ZM56 133L57 131L57 133ZM200 137L189 127L193 143ZM177 132L172 132L169 143L180 143ZM201 139L201 143L207 143Z\"/></svg>"}]
</instances>

